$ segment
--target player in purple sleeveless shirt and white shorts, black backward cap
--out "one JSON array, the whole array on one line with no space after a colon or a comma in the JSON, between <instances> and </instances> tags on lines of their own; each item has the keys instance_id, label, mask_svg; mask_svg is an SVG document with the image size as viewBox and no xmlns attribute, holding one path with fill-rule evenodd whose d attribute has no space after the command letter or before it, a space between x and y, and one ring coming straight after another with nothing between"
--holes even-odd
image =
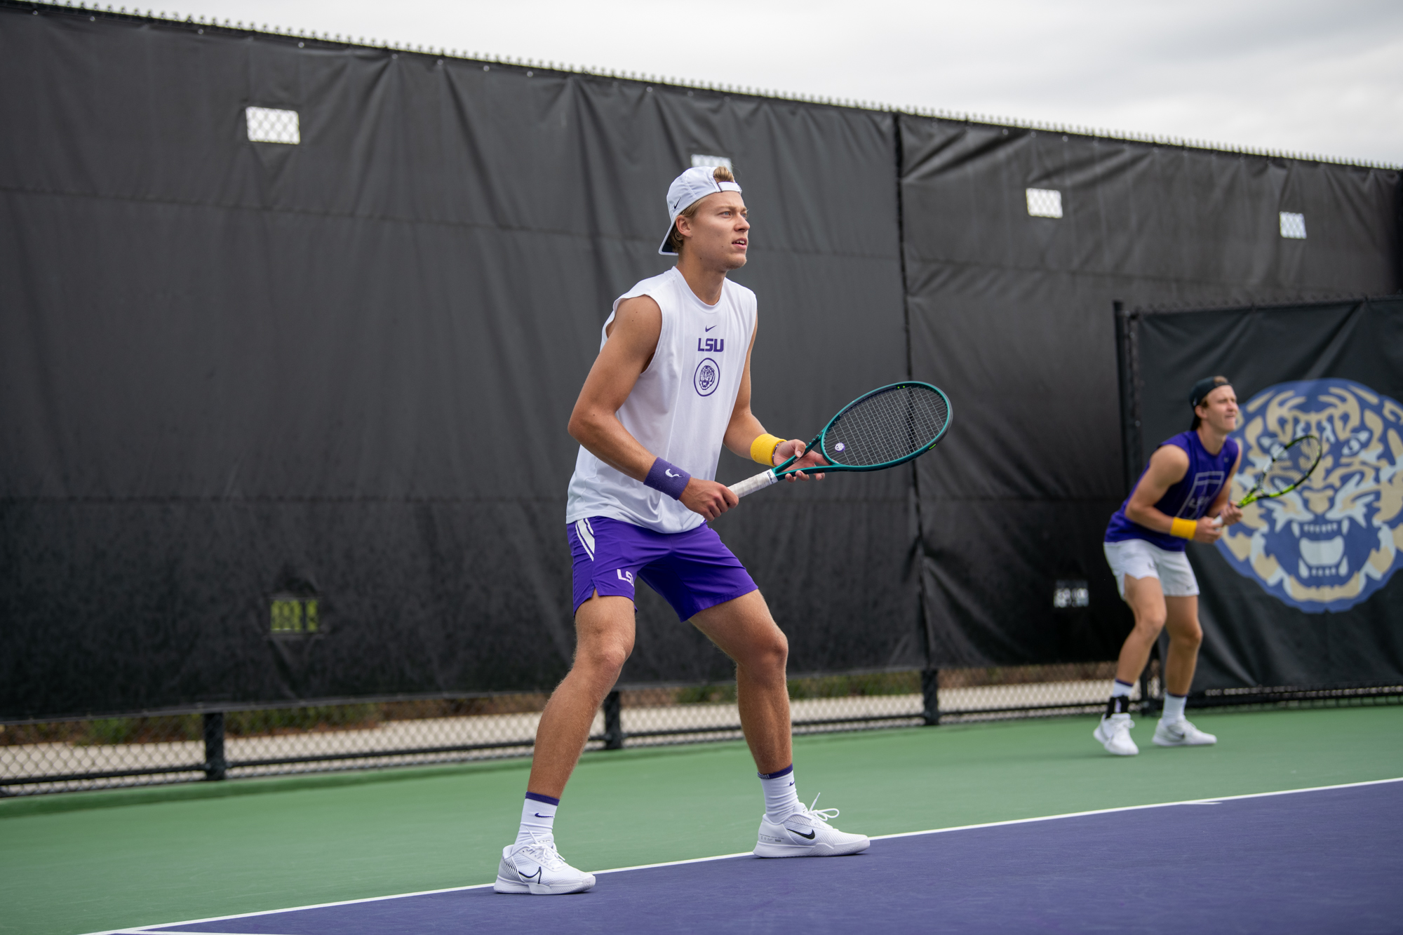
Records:
<instances>
[{"instance_id":1,"label":"player in purple sleeveless shirt and white shorts, black backward cap","mask_svg":"<svg viewBox=\"0 0 1403 935\"><path fill-rule=\"evenodd\" d=\"M1135 726L1129 715L1131 688L1145 671L1162 629L1169 630L1169 658L1164 713L1155 727L1155 744L1218 743L1184 717L1184 699L1204 640L1198 625L1198 581L1184 548L1190 541L1218 542L1223 526L1242 519L1242 510L1228 500L1232 476L1242 462L1237 442L1228 438L1237 428L1237 394L1226 376L1209 376L1194 383L1188 403L1194 407L1193 425L1160 442L1106 528L1106 560L1121 598L1135 614L1135 629L1121 647L1111 699L1092 736L1118 757L1139 752L1131 740Z\"/></svg>"}]
</instances>

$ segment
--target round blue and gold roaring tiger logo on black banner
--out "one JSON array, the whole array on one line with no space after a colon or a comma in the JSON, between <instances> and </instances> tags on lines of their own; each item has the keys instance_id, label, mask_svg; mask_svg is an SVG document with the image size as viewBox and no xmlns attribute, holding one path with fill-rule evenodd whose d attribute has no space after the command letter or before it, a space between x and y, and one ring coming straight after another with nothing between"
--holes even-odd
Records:
<instances>
[{"instance_id":1,"label":"round blue and gold roaring tiger logo on black banner","mask_svg":"<svg viewBox=\"0 0 1403 935\"><path fill-rule=\"evenodd\" d=\"M1403 564L1403 406L1344 379L1277 383L1242 407L1233 438L1247 494L1274 446L1315 434L1324 453L1284 497L1243 508L1218 550L1233 570L1308 614L1347 611Z\"/></svg>"}]
</instances>

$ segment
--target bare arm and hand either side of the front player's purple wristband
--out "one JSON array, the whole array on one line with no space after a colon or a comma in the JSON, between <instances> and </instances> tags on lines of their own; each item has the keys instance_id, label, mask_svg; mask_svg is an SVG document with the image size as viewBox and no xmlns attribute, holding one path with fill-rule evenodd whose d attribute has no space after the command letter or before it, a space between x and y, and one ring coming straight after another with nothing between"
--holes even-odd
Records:
<instances>
[{"instance_id":1,"label":"bare arm and hand either side of the front player's purple wristband","mask_svg":"<svg viewBox=\"0 0 1403 935\"><path fill-rule=\"evenodd\" d=\"M662 309L651 296L619 303L605 343L570 414L570 435L585 449L634 480L644 480L657 455L644 448L619 421L638 375L648 369L662 334ZM758 434L758 432L756 432ZM739 503L725 484L693 477L679 497L692 512L716 519Z\"/></svg>"}]
</instances>

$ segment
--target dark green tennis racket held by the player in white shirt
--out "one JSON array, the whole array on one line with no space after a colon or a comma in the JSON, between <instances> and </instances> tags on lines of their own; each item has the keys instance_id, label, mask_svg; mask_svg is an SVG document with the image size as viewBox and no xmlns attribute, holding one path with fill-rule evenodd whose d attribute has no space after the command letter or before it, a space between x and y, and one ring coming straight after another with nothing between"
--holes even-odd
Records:
<instances>
[{"instance_id":1,"label":"dark green tennis racket held by the player in white shirt","mask_svg":"<svg viewBox=\"0 0 1403 935\"><path fill-rule=\"evenodd\" d=\"M818 448L826 465L790 468L800 456L732 484L737 497L780 477L831 470L882 470L926 453L950 427L950 399L930 383L905 380L859 396L828 420L807 451Z\"/></svg>"}]
</instances>

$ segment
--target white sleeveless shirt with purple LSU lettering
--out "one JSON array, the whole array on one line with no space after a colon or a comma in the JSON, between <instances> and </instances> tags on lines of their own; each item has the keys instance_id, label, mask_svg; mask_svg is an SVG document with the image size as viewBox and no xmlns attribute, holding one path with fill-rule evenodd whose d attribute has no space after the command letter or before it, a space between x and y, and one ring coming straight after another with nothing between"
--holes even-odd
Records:
<instances>
[{"instance_id":1,"label":"white sleeveless shirt with purple LSU lettering","mask_svg":"<svg viewBox=\"0 0 1403 935\"><path fill-rule=\"evenodd\" d=\"M755 293L724 279L721 300L706 305L673 267L615 299L600 331L600 350L619 303L640 295L652 296L662 309L662 333L652 361L619 407L619 421L658 458L693 477L714 480L755 336ZM581 445L565 522L588 517L610 517L654 532L686 532L706 522L682 501L615 470Z\"/></svg>"}]
</instances>

